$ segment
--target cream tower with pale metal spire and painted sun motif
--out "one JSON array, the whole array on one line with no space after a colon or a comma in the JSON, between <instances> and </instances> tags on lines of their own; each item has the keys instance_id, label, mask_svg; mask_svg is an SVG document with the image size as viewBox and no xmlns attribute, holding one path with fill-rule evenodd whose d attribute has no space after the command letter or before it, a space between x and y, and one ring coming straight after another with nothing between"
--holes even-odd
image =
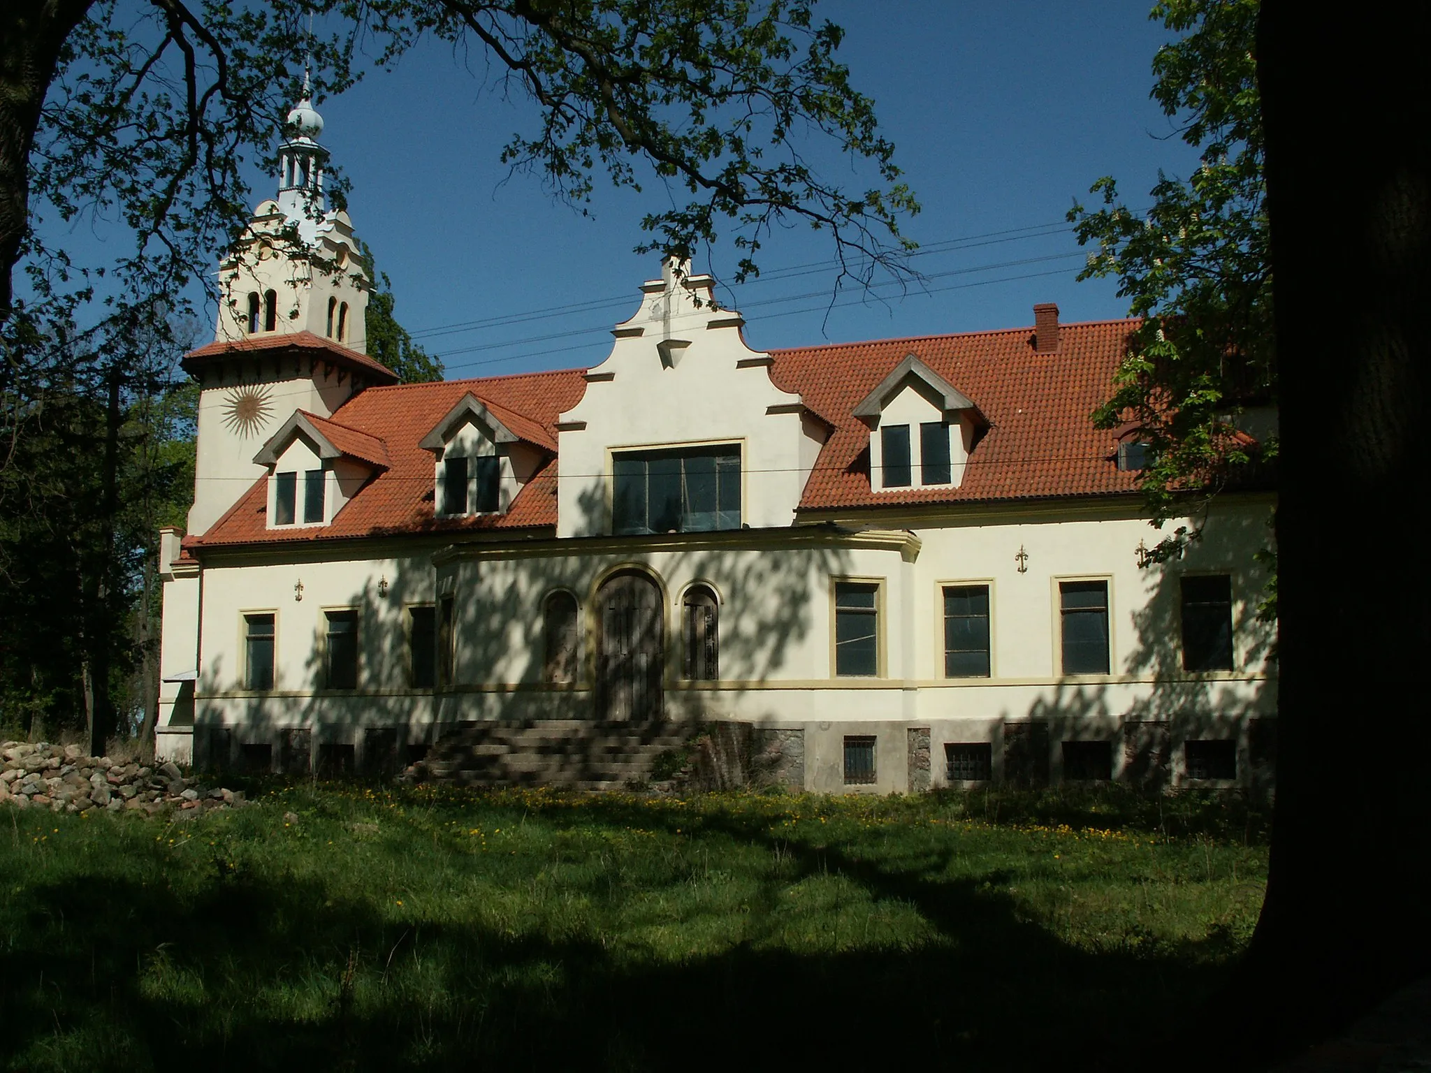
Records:
<instances>
[{"instance_id":1,"label":"cream tower with pale metal spire and painted sun motif","mask_svg":"<svg viewBox=\"0 0 1431 1073\"><path fill-rule=\"evenodd\" d=\"M295 411L326 418L398 379L365 353L372 280L348 213L326 207L322 132L305 79L279 147L278 197L259 203L219 263L213 342L183 361L200 383L195 536L266 472L253 456Z\"/></svg>"}]
</instances>

